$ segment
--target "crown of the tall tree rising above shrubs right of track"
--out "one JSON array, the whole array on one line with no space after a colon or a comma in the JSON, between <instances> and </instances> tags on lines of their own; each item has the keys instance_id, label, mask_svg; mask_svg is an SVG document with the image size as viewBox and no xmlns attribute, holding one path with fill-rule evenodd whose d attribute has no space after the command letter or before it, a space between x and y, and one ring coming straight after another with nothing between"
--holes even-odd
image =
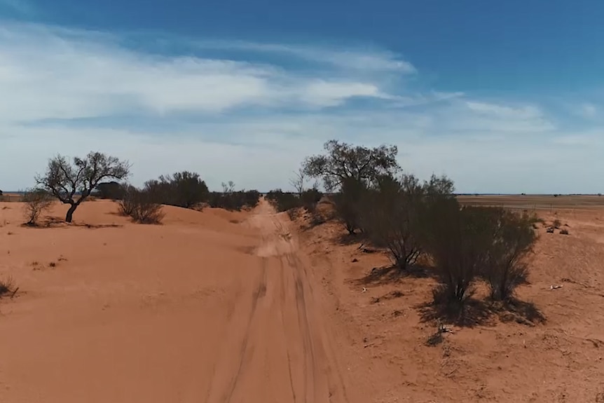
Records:
<instances>
[{"instance_id":1,"label":"crown of the tall tree rising above shrubs right of track","mask_svg":"<svg viewBox=\"0 0 604 403\"><path fill-rule=\"evenodd\" d=\"M303 170L309 177L323 179L327 191L337 189L348 178L369 184L380 176L394 175L400 169L397 146L381 145L369 149L330 140L324 144L324 149L324 154L306 158Z\"/></svg>"}]
</instances>

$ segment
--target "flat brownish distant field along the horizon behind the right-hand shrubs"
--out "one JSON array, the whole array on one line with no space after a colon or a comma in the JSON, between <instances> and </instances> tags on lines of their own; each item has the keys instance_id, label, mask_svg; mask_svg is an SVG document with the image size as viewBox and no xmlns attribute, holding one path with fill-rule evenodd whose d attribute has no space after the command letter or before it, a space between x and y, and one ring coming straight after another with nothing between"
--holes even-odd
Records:
<instances>
[{"instance_id":1,"label":"flat brownish distant field along the horizon behind the right-hand shrubs","mask_svg":"<svg viewBox=\"0 0 604 403\"><path fill-rule=\"evenodd\" d=\"M604 207L604 196L501 195L458 196L464 205L488 205L525 210L592 209Z\"/></svg>"}]
</instances>

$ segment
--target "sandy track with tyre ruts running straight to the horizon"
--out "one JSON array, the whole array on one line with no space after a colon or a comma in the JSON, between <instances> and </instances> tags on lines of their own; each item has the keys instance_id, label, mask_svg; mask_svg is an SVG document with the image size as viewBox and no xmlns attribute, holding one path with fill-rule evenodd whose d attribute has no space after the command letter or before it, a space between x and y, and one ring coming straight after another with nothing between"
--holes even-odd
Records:
<instances>
[{"instance_id":1,"label":"sandy track with tyre ruts running straight to the horizon","mask_svg":"<svg viewBox=\"0 0 604 403\"><path fill-rule=\"evenodd\" d=\"M229 318L207 402L348 402L287 221L263 204L249 224L261 233L259 270Z\"/></svg>"}]
</instances>

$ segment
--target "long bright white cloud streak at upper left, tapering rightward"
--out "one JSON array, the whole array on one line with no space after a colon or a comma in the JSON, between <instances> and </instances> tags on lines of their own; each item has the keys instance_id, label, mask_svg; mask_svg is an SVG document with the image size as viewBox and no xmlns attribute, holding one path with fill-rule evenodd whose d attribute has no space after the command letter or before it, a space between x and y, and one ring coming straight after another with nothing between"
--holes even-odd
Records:
<instances>
[{"instance_id":1,"label":"long bright white cloud streak at upper left, tapering rightward","mask_svg":"<svg viewBox=\"0 0 604 403\"><path fill-rule=\"evenodd\" d=\"M251 105L324 107L383 97L378 83L349 76L297 76L262 62L164 57L86 32L12 25L0 29L0 114L13 121L132 111L220 112Z\"/></svg>"}]
</instances>

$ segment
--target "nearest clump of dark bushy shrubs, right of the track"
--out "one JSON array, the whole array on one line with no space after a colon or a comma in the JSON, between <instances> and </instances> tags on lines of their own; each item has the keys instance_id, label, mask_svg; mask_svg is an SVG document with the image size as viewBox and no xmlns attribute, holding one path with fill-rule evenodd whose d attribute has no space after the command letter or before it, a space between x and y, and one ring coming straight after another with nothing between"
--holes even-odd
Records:
<instances>
[{"instance_id":1,"label":"nearest clump of dark bushy shrubs, right of the track","mask_svg":"<svg viewBox=\"0 0 604 403\"><path fill-rule=\"evenodd\" d=\"M492 299L511 299L526 281L524 257L537 239L530 217L498 207L460 208L453 200L439 203L433 217L430 252L442 284L435 302L463 308L477 276Z\"/></svg>"}]
</instances>

